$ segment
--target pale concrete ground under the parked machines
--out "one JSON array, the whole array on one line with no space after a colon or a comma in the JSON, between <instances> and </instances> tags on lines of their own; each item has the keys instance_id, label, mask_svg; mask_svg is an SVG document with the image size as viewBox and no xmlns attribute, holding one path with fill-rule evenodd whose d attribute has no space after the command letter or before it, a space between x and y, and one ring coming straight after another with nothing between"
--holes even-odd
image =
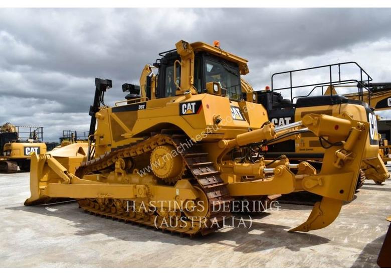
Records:
<instances>
[{"instance_id":1,"label":"pale concrete ground under the parked machines","mask_svg":"<svg viewBox=\"0 0 391 276\"><path fill-rule=\"evenodd\" d=\"M84 213L75 202L25 207L29 174L0 174L2 267L377 267L391 181L370 181L328 227L288 233L311 207L281 204L248 228L181 238Z\"/></svg>"}]
</instances>

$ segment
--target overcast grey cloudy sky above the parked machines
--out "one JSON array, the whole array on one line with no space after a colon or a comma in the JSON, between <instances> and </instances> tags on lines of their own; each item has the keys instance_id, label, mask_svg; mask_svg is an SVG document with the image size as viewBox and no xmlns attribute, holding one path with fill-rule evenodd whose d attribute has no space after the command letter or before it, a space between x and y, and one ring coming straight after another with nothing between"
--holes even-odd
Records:
<instances>
[{"instance_id":1,"label":"overcast grey cloudy sky above the parked machines","mask_svg":"<svg viewBox=\"0 0 391 276\"><path fill-rule=\"evenodd\" d=\"M42 125L46 141L88 130L95 77L113 80L107 104L122 100L121 84L181 39L220 40L249 60L255 89L275 72L345 61L391 82L390 26L384 8L0 9L0 124Z\"/></svg>"}]
</instances>

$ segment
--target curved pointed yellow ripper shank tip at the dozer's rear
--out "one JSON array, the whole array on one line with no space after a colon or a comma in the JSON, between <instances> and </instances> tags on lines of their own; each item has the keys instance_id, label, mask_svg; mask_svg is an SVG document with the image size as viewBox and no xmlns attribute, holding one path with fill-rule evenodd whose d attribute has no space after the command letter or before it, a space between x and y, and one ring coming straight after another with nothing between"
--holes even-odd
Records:
<instances>
[{"instance_id":1,"label":"curved pointed yellow ripper shank tip at the dozer's rear","mask_svg":"<svg viewBox=\"0 0 391 276\"><path fill-rule=\"evenodd\" d=\"M306 222L289 229L288 232L308 232L321 229L331 224L339 214L342 207L342 200L323 197L322 201L315 203Z\"/></svg>"}]
</instances>

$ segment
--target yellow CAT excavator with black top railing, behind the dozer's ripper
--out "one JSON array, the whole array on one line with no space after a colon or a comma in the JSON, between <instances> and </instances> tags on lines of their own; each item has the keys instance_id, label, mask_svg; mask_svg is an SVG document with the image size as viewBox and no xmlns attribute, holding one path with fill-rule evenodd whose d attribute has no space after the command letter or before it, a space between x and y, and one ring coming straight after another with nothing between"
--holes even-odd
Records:
<instances>
[{"instance_id":1,"label":"yellow CAT excavator with black top railing, behind the dozer's ripper","mask_svg":"<svg viewBox=\"0 0 391 276\"><path fill-rule=\"evenodd\" d=\"M313 75L319 70L327 72L326 79L317 82L302 80L303 76ZM352 77L349 74L352 71L357 72L358 77ZM286 79L285 83L290 85L281 85ZM278 127L300 121L309 113L331 116L347 113L356 120L369 123L369 144L378 145L377 118L371 104L378 106L377 103L380 101L376 95L380 92L372 92L371 89L374 86L370 82L371 80L372 78L356 62L291 70L273 74L272 87L255 92L254 99L256 98L258 103L265 106L270 121ZM343 95L336 92L336 89L340 91L342 89L352 90L353 88L358 91ZM387 94L385 91L381 93L382 98ZM286 97L287 94L290 95ZM371 97L377 101L371 100ZM290 139L270 145L266 157L287 156L291 161L311 161L311 165L319 171L325 150L329 147L333 147L333 144L329 143L325 137L307 132L301 135L292 135ZM380 155L372 156L372 158L366 156L363 159L358 186L363 184L365 177L377 184L381 184L389 178L389 173Z\"/></svg>"}]
</instances>

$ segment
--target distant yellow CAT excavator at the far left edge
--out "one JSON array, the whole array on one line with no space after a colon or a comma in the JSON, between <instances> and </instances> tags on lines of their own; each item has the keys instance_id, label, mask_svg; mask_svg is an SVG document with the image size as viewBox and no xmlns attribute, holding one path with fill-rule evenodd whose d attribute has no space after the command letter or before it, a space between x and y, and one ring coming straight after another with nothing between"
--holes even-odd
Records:
<instances>
[{"instance_id":1,"label":"distant yellow CAT excavator at the far left edge","mask_svg":"<svg viewBox=\"0 0 391 276\"><path fill-rule=\"evenodd\" d=\"M45 154L43 127L17 126L5 123L0 126L0 172L16 173L30 170L32 153Z\"/></svg>"}]
</instances>

